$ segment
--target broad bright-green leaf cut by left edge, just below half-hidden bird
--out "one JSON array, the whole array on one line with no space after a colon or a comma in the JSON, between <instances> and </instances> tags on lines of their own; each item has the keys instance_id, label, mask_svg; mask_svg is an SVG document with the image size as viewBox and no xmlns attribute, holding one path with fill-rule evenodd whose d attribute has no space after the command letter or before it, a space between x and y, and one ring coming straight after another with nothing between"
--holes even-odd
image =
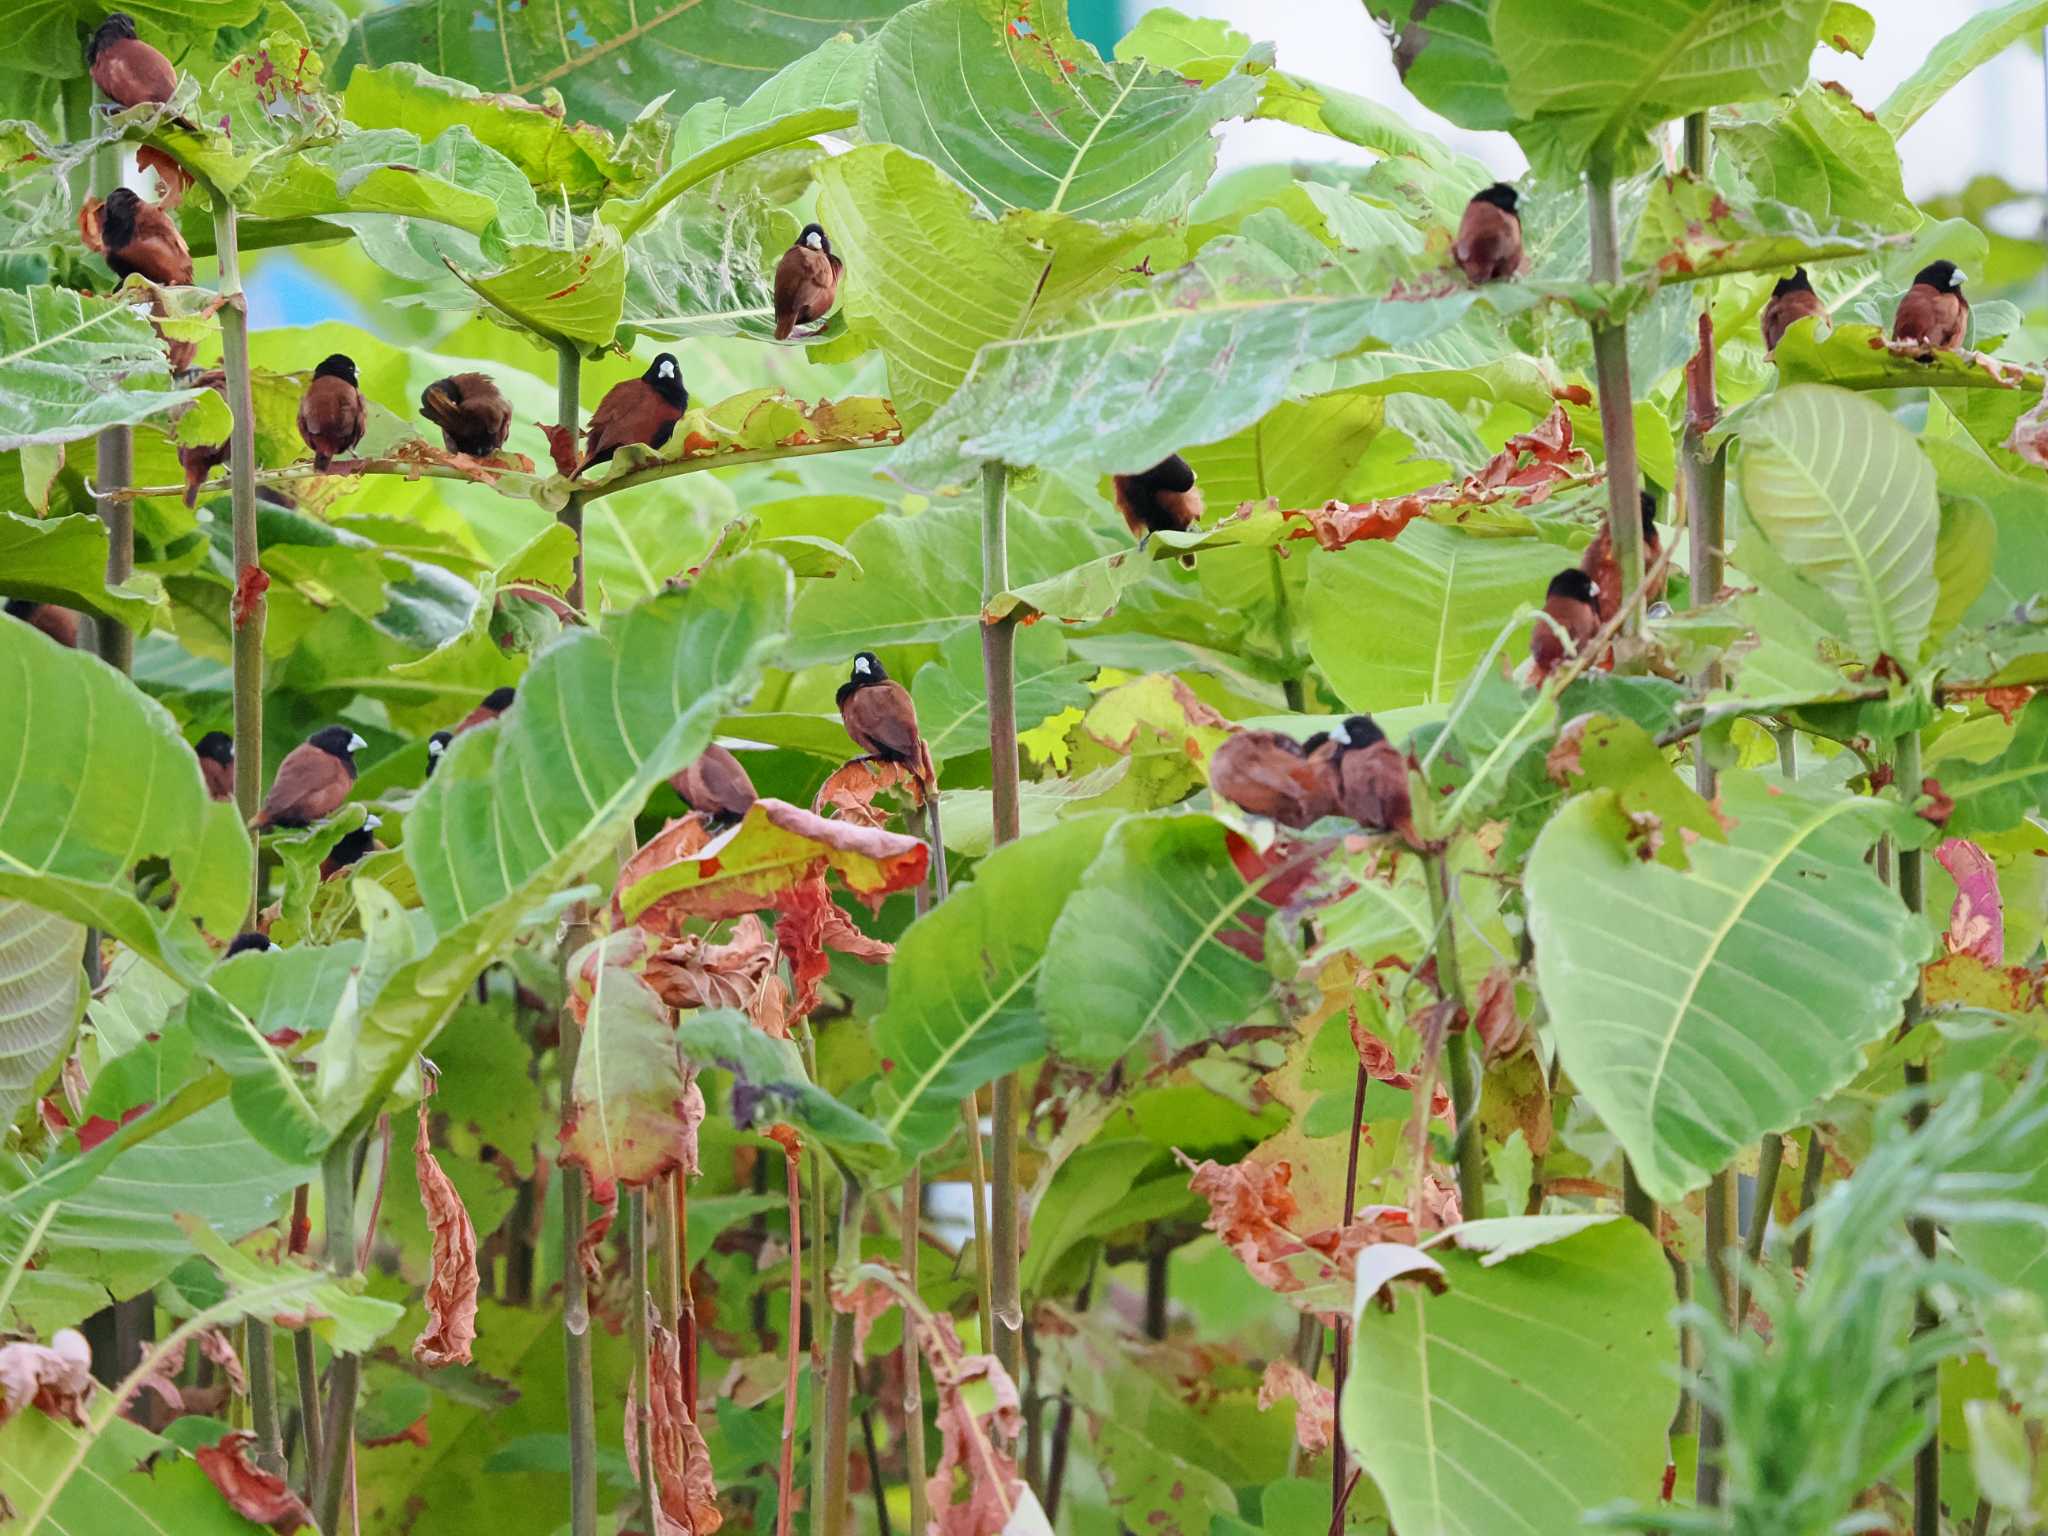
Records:
<instances>
[{"instance_id":1,"label":"broad bright-green leaf cut by left edge, just below half-hidden bird","mask_svg":"<svg viewBox=\"0 0 2048 1536\"><path fill-rule=\"evenodd\" d=\"M207 799L170 711L96 655L10 623L0 735L20 743L0 768L0 895L92 924L176 975L205 971L201 928L229 936L248 911L250 840L233 805ZM170 911L133 893L145 858L170 860Z\"/></svg>"}]
</instances>

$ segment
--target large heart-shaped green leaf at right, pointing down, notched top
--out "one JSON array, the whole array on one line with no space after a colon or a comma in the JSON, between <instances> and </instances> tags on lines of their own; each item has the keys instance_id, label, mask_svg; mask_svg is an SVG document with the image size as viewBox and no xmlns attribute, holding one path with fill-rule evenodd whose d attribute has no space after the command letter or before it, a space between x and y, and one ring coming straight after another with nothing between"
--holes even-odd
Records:
<instances>
[{"instance_id":1,"label":"large heart-shaped green leaf at right, pointing down, notched top","mask_svg":"<svg viewBox=\"0 0 2048 1536\"><path fill-rule=\"evenodd\" d=\"M1645 860L1612 791L1581 795L1528 862L1536 975L1565 1071L1657 1200L1800 1114L1896 1026L1925 948L1864 864L1872 801L1724 774L1726 844Z\"/></svg>"}]
</instances>

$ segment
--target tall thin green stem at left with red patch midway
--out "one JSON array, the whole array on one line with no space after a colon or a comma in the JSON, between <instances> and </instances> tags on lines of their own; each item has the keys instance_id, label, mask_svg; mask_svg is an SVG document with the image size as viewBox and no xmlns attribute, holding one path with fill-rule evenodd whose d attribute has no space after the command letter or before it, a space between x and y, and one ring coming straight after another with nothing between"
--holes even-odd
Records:
<instances>
[{"instance_id":1,"label":"tall thin green stem at left with red patch midway","mask_svg":"<svg viewBox=\"0 0 2048 1536\"><path fill-rule=\"evenodd\" d=\"M242 252L236 246L236 207L219 188L213 199L213 246L221 262L221 369L227 375L227 492L233 506L236 596L262 567L256 543L256 403L250 391L250 311L242 297ZM133 524L131 524L133 526ZM260 584L258 584L260 586ZM256 592L233 623L236 690L236 809L244 821L262 803L262 627L264 596ZM254 924L262 887L250 881L248 918Z\"/></svg>"}]
</instances>

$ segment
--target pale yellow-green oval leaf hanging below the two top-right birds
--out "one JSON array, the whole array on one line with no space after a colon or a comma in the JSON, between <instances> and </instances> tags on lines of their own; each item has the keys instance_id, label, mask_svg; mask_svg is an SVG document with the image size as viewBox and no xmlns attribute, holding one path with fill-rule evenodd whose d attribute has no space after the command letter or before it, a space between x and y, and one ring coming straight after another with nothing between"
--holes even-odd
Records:
<instances>
[{"instance_id":1,"label":"pale yellow-green oval leaf hanging below the two top-right birds","mask_svg":"<svg viewBox=\"0 0 2048 1536\"><path fill-rule=\"evenodd\" d=\"M1866 659L1911 664L1933 623L1933 467L1876 401L1792 385L1743 418L1743 502L1772 547L1847 616Z\"/></svg>"}]
</instances>

